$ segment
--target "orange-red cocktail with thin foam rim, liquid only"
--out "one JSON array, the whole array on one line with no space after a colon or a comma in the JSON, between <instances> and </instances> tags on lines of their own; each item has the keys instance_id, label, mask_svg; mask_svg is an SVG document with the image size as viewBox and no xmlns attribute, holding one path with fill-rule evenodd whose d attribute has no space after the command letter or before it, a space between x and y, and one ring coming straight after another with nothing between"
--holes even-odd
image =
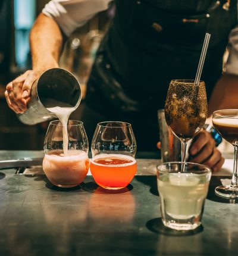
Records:
<instances>
[{"instance_id":1,"label":"orange-red cocktail with thin foam rim, liquid only","mask_svg":"<svg viewBox=\"0 0 238 256\"><path fill-rule=\"evenodd\" d=\"M101 154L93 157L90 171L95 182L102 188L124 188L136 174L136 160L129 155Z\"/></svg>"}]
</instances>

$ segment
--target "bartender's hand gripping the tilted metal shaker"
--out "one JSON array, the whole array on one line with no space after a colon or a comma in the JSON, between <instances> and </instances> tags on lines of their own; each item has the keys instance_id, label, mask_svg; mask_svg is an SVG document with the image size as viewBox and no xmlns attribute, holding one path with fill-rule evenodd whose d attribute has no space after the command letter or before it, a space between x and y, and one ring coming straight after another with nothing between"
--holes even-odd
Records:
<instances>
[{"instance_id":1,"label":"bartender's hand gripping the tilted metal shaker","mask_svg":"<svg viewBox=\"0 0 238 256\"><path fill-rule=\"evenodd\" d=\"M30 101L30 90L40 74L42 74L42 70L27 70L6 86L5 98L8 106L15 113L23 113L27 110L27 103Z\"/></svg>"}]
</instances>

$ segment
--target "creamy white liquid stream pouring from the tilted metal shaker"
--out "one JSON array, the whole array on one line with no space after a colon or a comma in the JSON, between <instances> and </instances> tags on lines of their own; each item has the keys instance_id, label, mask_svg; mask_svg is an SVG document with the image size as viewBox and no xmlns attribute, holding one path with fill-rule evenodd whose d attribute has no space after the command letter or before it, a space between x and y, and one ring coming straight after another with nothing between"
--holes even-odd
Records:
<instances>
[{"instance_id":1,"label":"creamy white liquid stream pouring from the tilted metal shaker","mask_svg":"<svg viewBox=\"0 0 238 256\"><path fill-rule=\"evenodd\" d=\"M63 126L63 149L64 155L68 154L68 131L67 131L67 123L68 117L70 114L75 110L73 107L54 107L54 108L47 108L47 110L54 113L61 121Z\"/></svg>"}]
</instances>

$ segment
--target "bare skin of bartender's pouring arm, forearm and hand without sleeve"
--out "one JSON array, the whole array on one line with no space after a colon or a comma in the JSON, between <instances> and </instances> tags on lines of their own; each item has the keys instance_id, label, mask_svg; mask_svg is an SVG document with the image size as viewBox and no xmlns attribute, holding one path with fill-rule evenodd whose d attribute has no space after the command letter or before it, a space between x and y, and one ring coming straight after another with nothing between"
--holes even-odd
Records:
<instances>
[{"instance_id":1,"label":"bare skin of bartender's pouring arm, forearm and hand without sleeve","mask_svg":"<svg viewBox=\"0 0 238 256\"><path fill-rule=\"evenodd\" d=\"M45 14L40 14L30 32L32 68L8 83L5 91L8 106L15 113L27 109L30 89L43 71L58 67L62 48L62 33L57 23Z\"/></svg>"}]
</instances>

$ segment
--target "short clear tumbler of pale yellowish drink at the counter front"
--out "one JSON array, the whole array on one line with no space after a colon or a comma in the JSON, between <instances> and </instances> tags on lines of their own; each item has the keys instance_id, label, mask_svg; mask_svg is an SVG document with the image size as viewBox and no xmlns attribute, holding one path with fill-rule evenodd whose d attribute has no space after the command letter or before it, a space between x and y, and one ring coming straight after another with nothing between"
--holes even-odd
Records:
<instances>
[{"instance_id":1,"label":"short clear tumbler of pale yellowish drink at the counter front","mask_svg":"<svg viewBox=\"0 0 238 256\"><path fill-rule=\"evenodd\" d=\"M177 171L165 170L167 164L180 167ZM185 163L186 169L183 172L182 163L165 163L158 167L157 184L162 221L172 229L190 230L201 224L211 171L202 165L196 166L202 167L202 170L198 170L193 168L194 165L188 170L188 163Z\"/></svg>"}]
</instances>

